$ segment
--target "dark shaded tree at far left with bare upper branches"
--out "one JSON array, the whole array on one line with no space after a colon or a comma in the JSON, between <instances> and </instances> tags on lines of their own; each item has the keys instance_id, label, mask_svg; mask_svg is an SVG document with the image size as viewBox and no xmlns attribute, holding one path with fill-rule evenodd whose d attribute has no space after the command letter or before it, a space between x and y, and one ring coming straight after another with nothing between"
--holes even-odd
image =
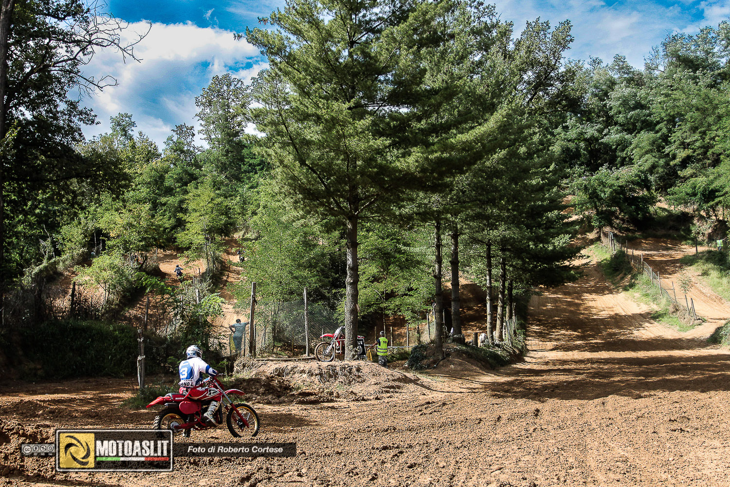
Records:
<instances>
[{"instance_id":1,"label":"dark shaded tree at far left with bare upper branches","mask_svg":"<svg viewBox=\"0 0 730 487\"><path fill-rule=\"evenodd\" d=\"M78 0L1 2L0 297L18 272L9 268L6 255L7 210L11 215L24 210L14 191L74 177L108 179L106 167L74 156L80 124L93 123L93 116L67 97L74 88L93 91L116 83L82 71L98 50L112 48L134 59L135 43L124 44L120 37L125 24L97 6Z\"/></svg>"}]
</instances>

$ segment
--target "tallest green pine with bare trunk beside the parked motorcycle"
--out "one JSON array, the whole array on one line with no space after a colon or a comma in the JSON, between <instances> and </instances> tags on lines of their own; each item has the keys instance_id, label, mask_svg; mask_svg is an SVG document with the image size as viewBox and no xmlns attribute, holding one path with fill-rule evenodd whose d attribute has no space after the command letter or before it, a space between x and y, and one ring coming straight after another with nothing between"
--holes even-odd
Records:
<instances>
[{"instance_id":1,"label":"tallest green pine with bare trunk beside the parked motorcycle","mask_svg":"<svg viewBox=\"0 0 730 487\"><path fill-rule=\"evenodd\" d=\"M463 164L443 156L442 145L463 150L454 136L465 127L472 139L494 130L477 127L468 107L456 111L464 118L443 116L477 93L469 88L478 58L472 26L495 35L488 12L475 19L469 8L451 0L300 0L270 16L277 31L247 30L269 58L252 87L262 107L251 110L266 134L266 159L294 199L345 225L347 356L358 319L360 219L391 211Z\"/></svg>"}]
</instances>

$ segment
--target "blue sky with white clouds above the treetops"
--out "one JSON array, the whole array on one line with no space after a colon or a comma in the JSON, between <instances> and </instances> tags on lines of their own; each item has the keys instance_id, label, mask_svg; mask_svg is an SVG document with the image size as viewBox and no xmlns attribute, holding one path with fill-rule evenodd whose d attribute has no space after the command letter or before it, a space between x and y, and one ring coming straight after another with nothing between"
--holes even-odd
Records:
<instances>
[{"instance_id":1,"label":"blue sky with white clouds above the treetops","mask_svg":"<svg viewBox=\"0 0 730 487\"><path fill-rule=\"evenodd\" d=\"M589 57L610 61L625 55L642 67L646 55L664 37L675 32L694 33L730 18L728 0L497 0L502 20L521 30L527 20L541 18L555 26L562 20L573 25L573 42L567 58ZM235 32L258 25L256 18L269 15L283 0L109 0L107 10L126 20L124 35L150 33L135 52L142 62L126 60L118 53L99 53L86 66L87 74L111 74L119 85L86 98L83 103L97 115L99 125L87 127L88 138L109 131L109 119L127 112L162 148L164 140L180 123L196 125L195 97L215 74L230 72L243 80L265 66L266 60Z\"/></svg>"}]
</instances>

